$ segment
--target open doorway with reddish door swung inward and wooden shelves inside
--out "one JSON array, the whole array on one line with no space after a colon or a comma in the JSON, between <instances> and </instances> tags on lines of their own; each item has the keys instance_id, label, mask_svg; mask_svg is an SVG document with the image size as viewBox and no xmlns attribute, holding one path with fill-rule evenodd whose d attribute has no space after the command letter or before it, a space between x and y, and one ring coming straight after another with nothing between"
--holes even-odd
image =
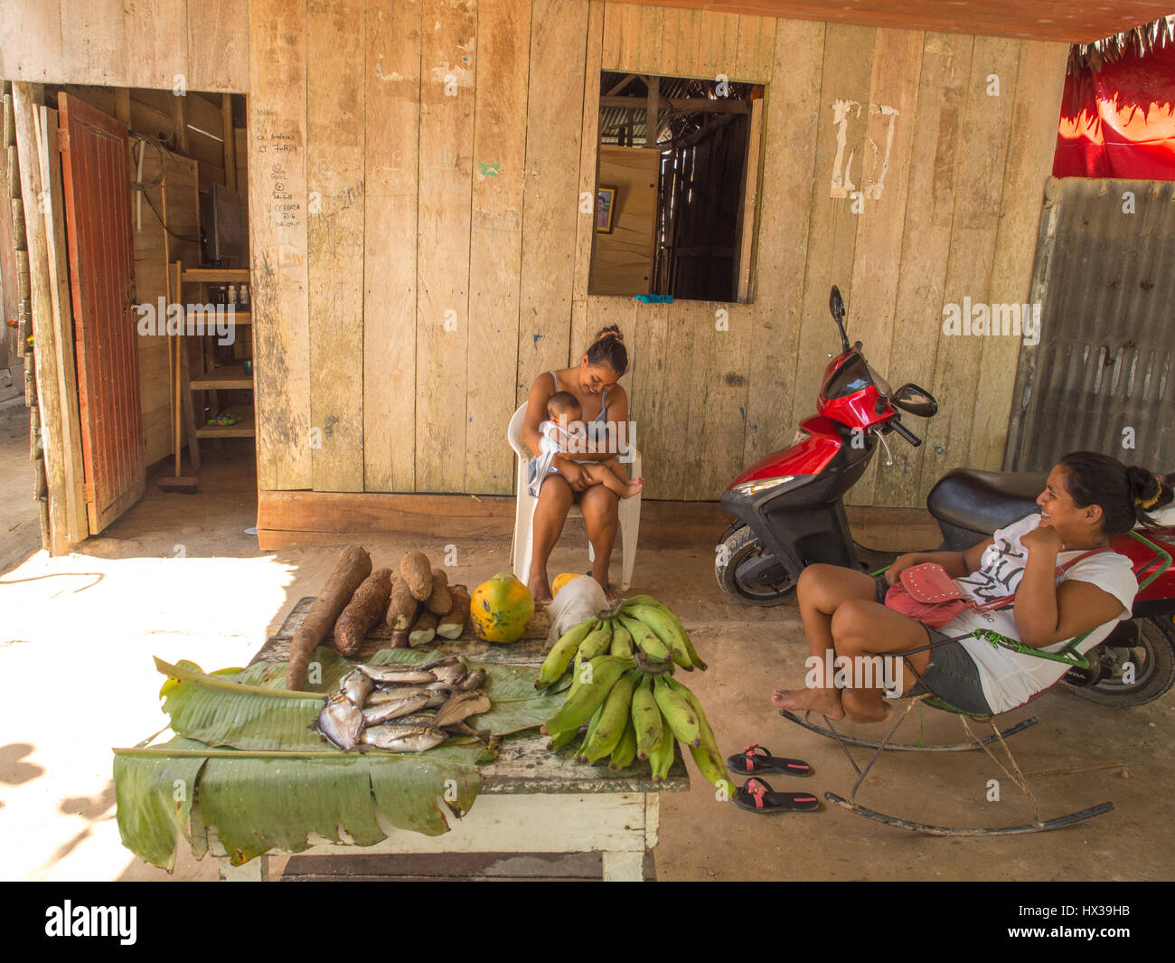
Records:
<instances>
[{"instance_id":1,"label":"open doorway with reddish door swung inward and wooden shelves inside","mask_svg":"<svg viewBox=\"0 0 1175 963\"><path fill-rule=\"evenodd\" d=\"M137 502L149 476L195 476L201 442L255 479L246 103L183 89L24 88L32 102L6 93L5 106L29 115L20 160L36 165L47 199L33 208L53 292L39 323L59 335L62 413L47 444L66 467L75 542ZM49 363L33 352L26 367L38 354Z\"/></svg>"}]
</instances>

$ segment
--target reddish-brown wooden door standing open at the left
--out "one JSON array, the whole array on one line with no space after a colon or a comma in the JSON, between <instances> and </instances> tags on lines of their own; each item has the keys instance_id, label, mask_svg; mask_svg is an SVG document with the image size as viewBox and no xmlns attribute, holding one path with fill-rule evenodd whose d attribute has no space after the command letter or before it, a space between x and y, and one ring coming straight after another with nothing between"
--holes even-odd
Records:
<instances>
[{"instance_id":1,"label":"reddish-brown wooden door standing open at the left","mask_svg":"<svg viewBox=\"0 0 1175 963\"><path fill-rule=\"evenodd\" d=\"M127 128L58 94L86 510L96 535L142 497Z\"/></svg>"}]
</instances>

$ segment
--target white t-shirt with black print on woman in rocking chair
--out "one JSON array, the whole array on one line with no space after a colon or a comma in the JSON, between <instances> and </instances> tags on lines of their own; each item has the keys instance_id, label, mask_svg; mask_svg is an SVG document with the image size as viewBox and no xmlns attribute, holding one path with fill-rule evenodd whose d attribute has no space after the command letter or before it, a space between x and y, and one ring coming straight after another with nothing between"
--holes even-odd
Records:
<instances>
[{"instance_id":1,"label":"white t-shirt with black print on woman in rocking chair","mask_svg":"<svg viewBox=\"0 0 1175 963\"><path fill-rule=\"evenodd\" d=\"M979 570L962 579L955 579L955 583L980 604L1015 593L1028 563L1028 549L1020 540L1039 524L1040 515L1028 515L1007 528L1001 528L995 533L995 542L983 553ZM1063 566L1081 553L1082 549L1061 551L1056 556L1056 564ZM1130 560L1116 551L1100 551L1082 559L1066 569L1056 583L1061 584L1067 579L1090 582L1122 603L1122 611L1116 618L1099 626L1082 640L1077 648L1085 654L1109 635L1117 622L1130 617L1130 607L1134 604L1139 582L1134 577ZM1010 606L1000 611L979 613L968 609L942 626L939 631L946 635L961 635L973 629L992 629L1008 638L1019 638ZM1045 646L1041 651L1060 651L1068 641ZM960 644L979 667L983 696L993 713L1006 713L1023 704L1041 689L1047 689L1056 682L1066 671L1066 667L1060 662L1021 655L978 638L962 638Z\"/></svg>"}]
</instances>

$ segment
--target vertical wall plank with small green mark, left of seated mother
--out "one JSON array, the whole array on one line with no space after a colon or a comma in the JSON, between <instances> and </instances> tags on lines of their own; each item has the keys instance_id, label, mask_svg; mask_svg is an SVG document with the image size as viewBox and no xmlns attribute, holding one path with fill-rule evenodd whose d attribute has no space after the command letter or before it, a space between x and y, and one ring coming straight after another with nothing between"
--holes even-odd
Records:
<instances>
[{"instance_id":1,"label":"vertical wall plank with small green mark, left of seated mother","mask_svg":"<svg viewBox=\"0 0 1175 963\"><path fill-rule=\"evenodd\" d=\"M598 58L603 5L595 7L592 22ZM517 459L505 443L505 436L516 396L529 47L528 7L519 7L511 0L481 0L463 491L508 495L513 490ZM598 59L593 67L598 87ZM584 102L588 100L585 96ZM586 126L588 118L584 121ZM595 159L589 159L589 163L593 165ZM591 169L589 166L589 172ZM526 384L522 390L529 388Z\"/></svg>"}]
</instances>

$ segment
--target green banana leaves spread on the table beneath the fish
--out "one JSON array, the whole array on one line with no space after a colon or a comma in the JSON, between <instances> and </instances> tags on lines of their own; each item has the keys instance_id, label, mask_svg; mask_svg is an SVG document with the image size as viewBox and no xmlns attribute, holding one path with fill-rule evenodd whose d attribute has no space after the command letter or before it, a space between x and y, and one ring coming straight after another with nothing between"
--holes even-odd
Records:
<instances>
[{"instance_id":1,"label":"green banana leaves spread on the table beneath the fish","mask_svg":"<svg viewBox=\"0 0 1175 963\"><path fill-rule=\"evenodd\" d=\"M434 656L384 649L375 664L418 664ZM354 663L331 649L314 654L316 689L334 691ZM286 663L204 673L192 662L155 660L168 676L163 710L175 738L160 745L116 749L118 822L126 845L172 870L177 835L197 858L204 838L193 832L197 812L216 828L230 860L241 864L269 849L301 852L320 840L371 845L387 828L425 835L448 831L445 810L468 812L481 788L476 742L446 743L421 754L344 753L311 727L321 693L282 688ZM498 735L545 722L564 696L535 691L537 669L481 664L492 709L470 720ZM199 797L199 808L193 801Z\"/></svg>"}]
</instances>

